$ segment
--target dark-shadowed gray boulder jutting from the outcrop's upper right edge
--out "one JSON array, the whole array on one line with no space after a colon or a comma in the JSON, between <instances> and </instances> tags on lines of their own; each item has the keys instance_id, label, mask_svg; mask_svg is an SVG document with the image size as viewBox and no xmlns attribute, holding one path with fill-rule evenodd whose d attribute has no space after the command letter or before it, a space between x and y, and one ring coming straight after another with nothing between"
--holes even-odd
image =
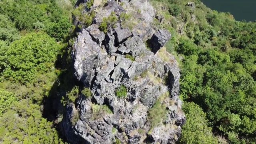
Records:
<instances>
[{"instance_id":1,"label":"dark-shadowed gray boulder jutting from the outcrop's upper right edge","mask_svg":"<svg viewBox=\"0 0 256 144\"><path fill-rule=\"evenodd\" d=\"M171 34L166 29L159 29L153 34L150 42L152 44L152 52L156 53L160 48L162 48L166 42L171 38Z\"/></svg>"}]
</instances>

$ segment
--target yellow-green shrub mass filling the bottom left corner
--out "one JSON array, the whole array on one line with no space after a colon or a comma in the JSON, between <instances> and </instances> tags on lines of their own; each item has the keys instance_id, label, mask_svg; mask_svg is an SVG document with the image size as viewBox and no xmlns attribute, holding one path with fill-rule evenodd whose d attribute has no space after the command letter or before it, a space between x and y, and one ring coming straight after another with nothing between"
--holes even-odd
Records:
<instances>
[{"instance_id":1,"label":"yellow-green shrub mass filling the bottom left corner","mask_svg":"<svg viewBox=\"0 0 256 144\"><path fill-rule=\"evenodd\" d=\"M52 122L42 118L40 106L26 99L13 102L0 117L0 142L63 144Z\"/></svg>"}]
</instances>

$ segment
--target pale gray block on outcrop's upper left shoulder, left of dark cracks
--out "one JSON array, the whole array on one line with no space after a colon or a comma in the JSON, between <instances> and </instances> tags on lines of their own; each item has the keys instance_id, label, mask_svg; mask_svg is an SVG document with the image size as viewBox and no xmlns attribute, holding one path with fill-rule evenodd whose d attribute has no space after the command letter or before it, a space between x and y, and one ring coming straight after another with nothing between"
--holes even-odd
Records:
<instances>
[{"instance_id":1,"label":"pale gray block on outcrop's upper left shoulder, left of dark cracks","mask_svg":"<svg viewBox=\"0 0 256 144\"><path fill-rule=\"evenodd\" d=\"M101 42L105 39L105 34L98 29L98 25L92 24L86 28L86 30L89 32L90 36L92 36L92 40L101 45Z\"/></svg>"}]
</instances>

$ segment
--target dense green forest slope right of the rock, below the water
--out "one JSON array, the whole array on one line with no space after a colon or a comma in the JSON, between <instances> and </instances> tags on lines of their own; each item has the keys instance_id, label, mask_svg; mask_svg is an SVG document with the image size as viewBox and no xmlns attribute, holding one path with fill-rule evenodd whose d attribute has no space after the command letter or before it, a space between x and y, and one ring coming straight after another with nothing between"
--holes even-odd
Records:
<instances>
[{"instance_id":1,"label":"dense green forest slope right of the rock, below the water","mask_svg":"<svg viewBox=\"0 0 256 144\"><path fill-rule=\"evenodd\" d=\"M256 23L238 22L199 0L152 0L152 5L163 18L154 24L172 32L166 49L180 60L187 116L180 143L255 144Z\"/></svg>"}]
</instances>

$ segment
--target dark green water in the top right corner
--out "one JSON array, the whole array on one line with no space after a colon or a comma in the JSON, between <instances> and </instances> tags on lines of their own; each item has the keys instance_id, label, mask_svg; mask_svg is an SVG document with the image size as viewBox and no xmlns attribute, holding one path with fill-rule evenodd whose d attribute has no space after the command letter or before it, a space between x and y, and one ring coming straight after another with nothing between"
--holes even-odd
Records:
<instances>
[{"instance_id":1,"label":"dark green water in the top right corner","mask_svg":"<svg viewBox=\"0 0 256 144\"><path fill-rule=\"evenodd\" d=\"M256 20L256 0L201 0L207 7L218 12L230 12L238 21Z\"/></svg>"}]
</instances>

